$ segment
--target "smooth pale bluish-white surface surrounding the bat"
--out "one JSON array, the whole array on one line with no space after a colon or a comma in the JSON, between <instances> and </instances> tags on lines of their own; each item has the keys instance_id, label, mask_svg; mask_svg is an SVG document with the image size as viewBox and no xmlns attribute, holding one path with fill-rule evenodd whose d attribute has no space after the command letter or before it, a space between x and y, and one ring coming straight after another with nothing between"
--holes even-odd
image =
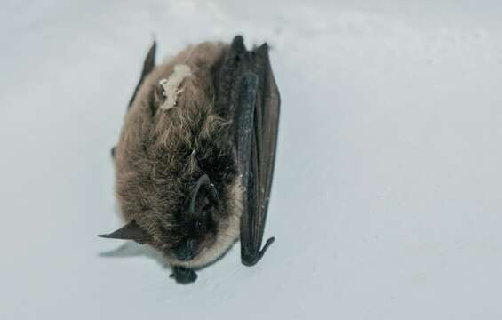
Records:
<instances>
[{"instance_id":1,"label":"smooth pale bluish-white surface surrounding the bat","mask_svg":"<svg viewBox=\"0 0 502 320\"><path fill-rule=\"evenodd\" d=\"M0 318L500 319L498 1L5 1ZM266 236L175 284L119 227L110 148L153 35L267 41Z\"/></svg>"}]
</instances>

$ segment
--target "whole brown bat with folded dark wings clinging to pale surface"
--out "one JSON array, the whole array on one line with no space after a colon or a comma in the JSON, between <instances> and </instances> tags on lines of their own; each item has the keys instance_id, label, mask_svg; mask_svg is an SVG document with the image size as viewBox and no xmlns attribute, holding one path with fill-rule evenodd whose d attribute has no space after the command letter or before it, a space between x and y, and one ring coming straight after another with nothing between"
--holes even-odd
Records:
<instances>
[{"instance_id":1,"label":"whole brown bat with folded dark wings clinging to pale surface","mask_svg":"<svg viewBox=\"0 0 502 320\"><path fill-rule=\"evenodd\" d=\"M112 157L125 225L100 235L162 252L179 284L240 239L255 265L275 164L280 96L262 44L188 46L155 65L144 61Z\"/></svg>"}]
</instances>

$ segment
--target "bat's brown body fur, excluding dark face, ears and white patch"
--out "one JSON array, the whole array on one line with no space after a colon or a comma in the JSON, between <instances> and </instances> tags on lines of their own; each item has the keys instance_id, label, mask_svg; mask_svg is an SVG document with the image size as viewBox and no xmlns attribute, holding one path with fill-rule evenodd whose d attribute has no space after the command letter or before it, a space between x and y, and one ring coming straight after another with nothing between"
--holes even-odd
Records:
<instances>
[{"instance_id":1,"label":"bat's brown body fur, excluding dark face, ears and white patch","mask_svg":"<svg viewBox=\"0 0 502 320\"><path fill-rule=\"evenodd\" d=\"M124 220L136 220L147 230L151 245L173 265L210 263L239 234L243 192L229 160L229 123L213 111L213 72L226 50L220 43L189 46L155 67L139 88L116 145L116 196ZM192 76L180 85L177 105L163 111L158 108L164 99L158 82L179 63L187 64ZM216 171L213 162L227 167ZM171 244L183 234L179 217L187 210L193 183L208 170L215 170L210 178L222 202L214 214L217 232L204 237L194 260L181 262L170 253Z\"/></svg>"}]
</instances>

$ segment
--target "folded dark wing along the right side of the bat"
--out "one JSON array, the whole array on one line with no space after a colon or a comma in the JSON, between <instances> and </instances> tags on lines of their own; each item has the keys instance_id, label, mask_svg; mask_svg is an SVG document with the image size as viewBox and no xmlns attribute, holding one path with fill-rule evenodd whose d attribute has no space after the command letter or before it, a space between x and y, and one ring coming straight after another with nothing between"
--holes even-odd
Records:
<instances>
[{"instance_id":1,"label":"folded dark wing along the right side of the bat","mask_svg":"<svg viewBox=\"0 0 502 320\"><path fill-rule=\"evenodd\" d=\"M274 241L268 239L260 249L274 172L280 106L267 44L248 52L243 37L236 36L220 68L218 93L218 108L234 119L236 158L245 188L241 257L243 264L252 266Z\"/></svg>"}]
</instances>

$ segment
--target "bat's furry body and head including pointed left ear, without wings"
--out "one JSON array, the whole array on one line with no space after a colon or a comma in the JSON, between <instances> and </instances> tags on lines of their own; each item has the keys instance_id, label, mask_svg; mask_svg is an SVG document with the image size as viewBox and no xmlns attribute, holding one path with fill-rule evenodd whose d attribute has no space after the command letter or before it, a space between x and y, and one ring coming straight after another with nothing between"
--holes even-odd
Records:
<instances>
[{"instance_id":1,"label":"bat's furry body and head including pointed left ear, without wings","mask_svg":"<svg viewBox=\"0 0 502 320\"><path fill-rule=\"evenodd\" d=\"M175 107L163 109L165 97L155 92L176 74L178 58L156 68L133 99L115 152L116 196L128 223L103 236L149 244L172 265L200 267L235 242L243 192L229 124L212 109L210 66L222 47L188 52L199 62L179 84Z\"/></svg>"}]
</instances>

